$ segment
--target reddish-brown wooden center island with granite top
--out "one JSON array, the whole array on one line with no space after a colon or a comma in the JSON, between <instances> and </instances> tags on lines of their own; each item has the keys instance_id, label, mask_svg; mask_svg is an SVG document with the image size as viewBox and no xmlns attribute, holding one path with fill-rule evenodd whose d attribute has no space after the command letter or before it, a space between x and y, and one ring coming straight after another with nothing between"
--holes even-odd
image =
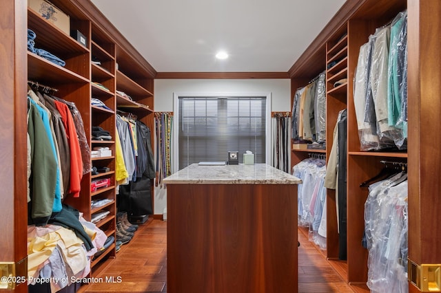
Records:
<instances>
[{"instance_id":1,"label":"reddish-brown wooden center island with granite top","mask_svg":"<svg viewBox=\"0 0 441 293\"><path fill-rule=\"evenodd\" d=\"M297 186L267 164L165 178L167 292L297 292Z\"/></svg>"}]
</instances>

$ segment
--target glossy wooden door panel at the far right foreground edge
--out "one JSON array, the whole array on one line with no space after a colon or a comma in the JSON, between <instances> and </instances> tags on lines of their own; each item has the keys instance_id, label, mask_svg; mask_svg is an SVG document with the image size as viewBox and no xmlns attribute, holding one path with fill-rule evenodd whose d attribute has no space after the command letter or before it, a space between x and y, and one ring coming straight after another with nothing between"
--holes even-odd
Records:
<instances>
[{"instance_id":1,"label":"glossy wooden door panel at the far right foreground edge","mask_svg":"<svg viewBox=\"0 0 441 293\"><path fill-rule=\"evenodd\" d=\"M409 259L441 263L441 2L408 2Z\"/></svg>"}]
</instances>

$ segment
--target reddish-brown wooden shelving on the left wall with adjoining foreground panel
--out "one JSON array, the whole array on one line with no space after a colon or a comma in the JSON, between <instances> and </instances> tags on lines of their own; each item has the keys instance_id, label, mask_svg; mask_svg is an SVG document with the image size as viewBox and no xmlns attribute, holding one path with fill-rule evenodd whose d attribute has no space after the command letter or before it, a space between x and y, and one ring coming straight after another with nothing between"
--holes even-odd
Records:
<instances>
[{"instance_id":1,"label":"reddish-brown wooden shelving on the left wall with adjoining foreground panel","mask_svg":"<svg viewBox=\"0 0 441 293\"><path fill-rule=\"evenodd\" d=\"M116 113L118 109L135 113L138 119L154 127L154 98L153 78L154 69L143 57L136 52L134 47L127 43L125 38L107 21L90 1L51 1L61 11L70 17L70 29L78 30L87 39L87 45L76 41L56 25L43 19L31 8L26 8L25 1L7 1L3 3L7 9L1 12L1 32L3 41L8 47L0 50L2 64L5 65L3 73L9 76L3 80L2 86L2 116L3 110L9 112L10 120L4 125L10 129L2 135L1 149L7 151L10 159L5 160L5 167L13 175L15 182L8 183L6 193L2 193L7 201L14 199L8 205L13 217L7 216L12 225L12 250L6 249L6 254L1 254L1 261L16 263L17 272L21 268L17 263L23 263L26 255L26 217L25 210L25 174L26 155L25 147L25 93L26 78L39 85L57 89L54 96L74 102L81 113L87 144L91 150L95 147L108 147L111 155L100 158L88 158L90 166L107 167L106 173L92 175L90 172L83 174L81 192L79 197L66 197L65 204L70 204L83 213L83 217L91 220L95 213L107 210L110 214L96 223L107 236L114 235L116 230L116 182L115 182L115 140ZM64 66L48 61L33 52L26 50L26 28L37 35L34 47L46 50L65 61ZM22 45L23 43L23 45ZM6 43L3 43L6 44ZM8 61L4 63L3 61ZM99 61L96 63L94 61ZM122 98L116 90L123 90L133 97L133 100ZM91 105L91 99L96 98L104 103L105 107ZM18 102L21 101L19 104ZM12 127L12 128L11 128ZM110 132L112 140L94 140L92 127L102 127ZM154 131L152 131L153 133ZM8 140L11 148L3 146ZM153 138L152 138L153 141ZM3 166L2 166L2 169ZM2 178L6 174L2 173ZM110 185L92 191L91 184L94 180L110 179ZM2 179L3 183L3 179ZM153 186L153 184L152 184ZM99 208L92 208L92 200L111 199L111 202ZM17 210L17 212L14 212ZM21 211L19 213L19 211ZM23 233L17 233L23 231ZM2 245L3 247L3 245ZM3 251L3 249L2 249ZM12 257L11 257L12 256ZM115 246L112 245L91 263L92 275L96 274L108 257L116 257ZM3 269L2 269L3 270ZM18 275L18 274L17 274ZM23 290L23 291L21 291ZM17 286L16 292L25 292L26 288Z\"/></svg>"}]
</instances>

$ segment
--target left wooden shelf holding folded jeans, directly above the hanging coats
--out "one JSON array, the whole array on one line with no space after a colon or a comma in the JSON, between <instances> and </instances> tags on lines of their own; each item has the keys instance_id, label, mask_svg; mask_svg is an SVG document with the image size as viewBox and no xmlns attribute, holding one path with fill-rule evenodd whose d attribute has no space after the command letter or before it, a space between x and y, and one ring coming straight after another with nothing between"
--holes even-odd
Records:
<instances>
[{"instance_id":1,"label":"left wooden shelf holding folded jeans, directly above the hanging coats","mask_svg":"<svg viewBox=\"0 0 441 293\"><path fill-rule=\"evenodd\" d=\"M32 52L28 52L28 80L48 85L89 83L87 78L47 61Z\"/></svg>"}]
</instances>

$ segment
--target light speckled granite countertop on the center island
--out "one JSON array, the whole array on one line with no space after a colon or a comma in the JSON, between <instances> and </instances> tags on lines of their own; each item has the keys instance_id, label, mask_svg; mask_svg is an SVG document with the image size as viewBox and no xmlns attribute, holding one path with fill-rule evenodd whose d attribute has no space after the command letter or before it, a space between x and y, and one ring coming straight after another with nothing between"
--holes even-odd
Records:
<instances>
[{"instance_id":1,"label":"light speckled granite countertop on the center island","mask_svg":"<svg viewBox=\"0 0 441 293\"><path fill-rule=\"evenodd\" d=\"M267 164L199 166L191 164L169 177L165 184L300 184L302 181Z\"/></svg>"}]
</instances>

